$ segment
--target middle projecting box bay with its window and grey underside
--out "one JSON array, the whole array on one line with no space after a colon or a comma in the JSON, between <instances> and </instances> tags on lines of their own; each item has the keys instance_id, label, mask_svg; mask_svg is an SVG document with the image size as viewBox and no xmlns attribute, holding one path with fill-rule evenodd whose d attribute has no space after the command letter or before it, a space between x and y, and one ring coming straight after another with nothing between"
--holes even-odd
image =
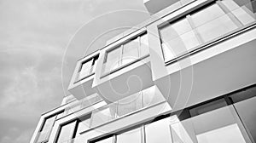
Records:
<instances>
[{"instance_id":1,"label":"middle projecting box bay with its window and grey underside","mask_svg":"<svg viewBox=\"0 0 256 143\"><path fill-rule=\"evenodd\" d=\"M93 87L108 103L154 85L146 28L133 31L101 50Z\"/></svg>"}]
</instances>

